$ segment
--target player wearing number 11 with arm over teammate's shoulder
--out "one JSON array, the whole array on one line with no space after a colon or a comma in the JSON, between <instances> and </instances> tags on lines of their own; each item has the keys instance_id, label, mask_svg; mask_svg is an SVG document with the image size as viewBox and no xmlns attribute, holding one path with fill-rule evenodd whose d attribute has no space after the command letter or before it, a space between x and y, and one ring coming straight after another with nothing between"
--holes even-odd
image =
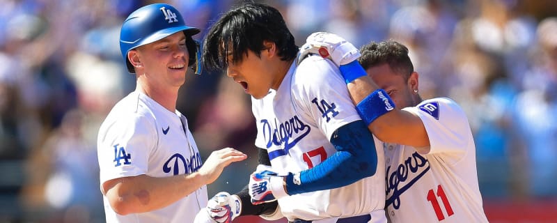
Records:
<instances>
[{"instance_id":1,"label":"player wearing number 11 with arm over teammate's shoulder","mask_svg":"<svg viewBox=\"0 0 557 223\"><path fill-rule=\"evenodd\" d=\"M354 48L346 45L334 34L314 33L300 55L320 54L340 66L356 109L384 141L385 206L391 222L487 222L464 111L449 98L422 100L418 72L404 45L369 43L359 61L338 56ZM391 99L396 109L382 109ZM378 110L389 111L376 116Z\"/></svg>"}]
</instances>

